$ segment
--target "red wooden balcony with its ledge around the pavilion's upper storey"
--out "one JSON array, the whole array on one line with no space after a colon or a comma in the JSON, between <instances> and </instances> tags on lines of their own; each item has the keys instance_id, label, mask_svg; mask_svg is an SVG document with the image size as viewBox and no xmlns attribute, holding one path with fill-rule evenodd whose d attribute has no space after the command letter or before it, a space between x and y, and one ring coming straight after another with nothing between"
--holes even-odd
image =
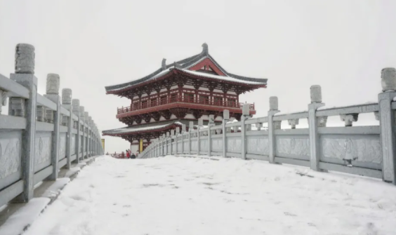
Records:
<instances>
[{"instance_id":1,"label":"red wooden balcony with its ledge around the pavilion's upper storey","mask_svg":"<svg viewBox=\"0 0 396 235\"><path fill-rule=\"evenodd\" d=\"M242 113L242 105L244 105L244 103L241 102L174 96L171 98L162 98L161 100L147 100L145 102L131 105L131 107L117 108L117 118L156 112L159 110L171 109L176 107L216 111L223 111L224 109L229 109L230 112ZM256 114L254 104L249 104L249 109L251 114Z\"/></svg>"}]
</instances>

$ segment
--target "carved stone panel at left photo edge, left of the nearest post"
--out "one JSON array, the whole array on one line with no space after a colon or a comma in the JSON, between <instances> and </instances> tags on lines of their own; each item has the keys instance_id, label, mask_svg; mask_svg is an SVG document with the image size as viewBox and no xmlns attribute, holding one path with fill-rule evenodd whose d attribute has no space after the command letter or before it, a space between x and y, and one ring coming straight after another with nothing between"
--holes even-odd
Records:
<instances>
[{"instance_id":1,"label":"carved stone panel at left photo edge, left of the nearest post","mask_svg":"<svg viewBox=\"0 0 396 235\"><path fill-rule=\"evenodd\" d=\"M20 142L21 133L17 131L13 132L0 132L0 180L6 177L20 172ZM8 183L13 183L20 178L19 175L15 176L15 179ZM0 182L0 189L5 187Z\"/></svg>"}]
</instances>

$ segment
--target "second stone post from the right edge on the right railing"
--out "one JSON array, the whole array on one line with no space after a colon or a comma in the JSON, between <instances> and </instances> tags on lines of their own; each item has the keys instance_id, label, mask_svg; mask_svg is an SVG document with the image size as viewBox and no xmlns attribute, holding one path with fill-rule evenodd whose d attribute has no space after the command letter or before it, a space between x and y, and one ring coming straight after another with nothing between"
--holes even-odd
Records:
<instances>
[{"instance_id":1,"label":"second stone post from the right edge on the right railing","mask_svg":"<svg viewBox=\"0 0 396 235\"><path fill-rule=\"evenodd\" d=\"M312 170L320 170L319 168L319 135L317 128L319 127L319 119L316 116L316 110L324 106L322 103L322 88L318 85L311 86L311 103L308 105L308 124L310 127L310 163Z\"/></svg>"}]
</instances>

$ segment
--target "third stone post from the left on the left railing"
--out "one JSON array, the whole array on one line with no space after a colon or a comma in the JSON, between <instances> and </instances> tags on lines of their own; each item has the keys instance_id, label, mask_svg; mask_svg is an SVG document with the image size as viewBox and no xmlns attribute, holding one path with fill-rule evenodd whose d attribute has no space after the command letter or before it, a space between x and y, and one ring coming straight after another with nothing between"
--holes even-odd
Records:
<instances>
[{"instance_id":1,"label":"third stone post from the left on the left railing","mask_svg":"<svg viewBox=\"0 0 396 235\"><path fill-rule=\"evenodd\" d=\"M66 133L66 168L70 169L71 166L71 156L72 156L72 128L73 128L73 118L72 118L72 89L63 88L62 89L62 106L65 107L70 112L69 116L63 116L62 124L67 126Z\"/></svg>"}]
</instances>

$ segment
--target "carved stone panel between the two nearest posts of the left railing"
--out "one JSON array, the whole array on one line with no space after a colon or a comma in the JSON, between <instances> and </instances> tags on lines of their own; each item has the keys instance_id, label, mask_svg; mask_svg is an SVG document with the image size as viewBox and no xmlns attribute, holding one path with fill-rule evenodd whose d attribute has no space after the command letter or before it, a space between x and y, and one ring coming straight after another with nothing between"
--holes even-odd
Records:
<instances>
[{"instance_id":1,"label":"carved stone panel between the two nearest posts of the left railing","mask_svg":"<svg viewBox=\"0 0 396 235\"><path fill-rule=\"evenodd\" d=\"M51 164L51 132L36 133L34 144L34 172Z\"/></svg>"}]
</instances>

